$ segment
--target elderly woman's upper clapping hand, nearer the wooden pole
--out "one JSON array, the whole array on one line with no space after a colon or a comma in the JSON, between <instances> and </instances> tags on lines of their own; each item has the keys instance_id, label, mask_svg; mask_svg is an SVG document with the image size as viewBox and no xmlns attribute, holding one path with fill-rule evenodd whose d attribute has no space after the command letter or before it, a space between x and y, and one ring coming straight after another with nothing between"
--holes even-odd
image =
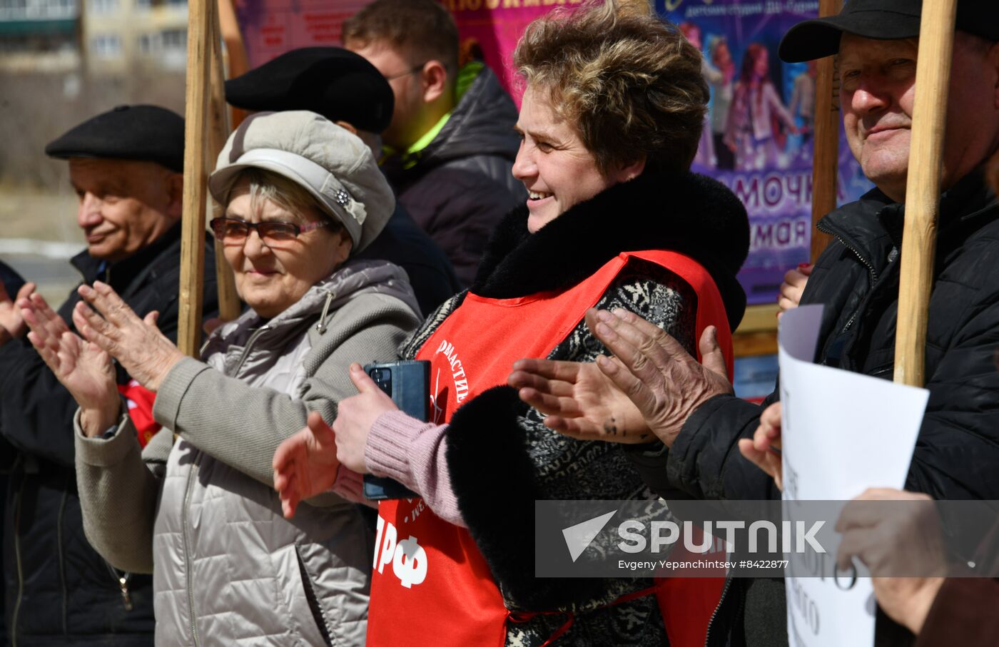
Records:
<instances>
[{"instance_id":1,"label":"elderly woman's upper clapping hand, nearer the wooden pole","mask_svg":"<svg viewBox=\"0 0 999 647\"><path fill-rule=\"evenodd\" d=\"M157 391L174 364L184 358L180 348L156 326L159 314L152 312L139 319L111 286L99 281L93 288L80 286L77 292L86 304L76 305L73 323L84 338L111 354L140 384Z\"/></svg>"}]
</instances>

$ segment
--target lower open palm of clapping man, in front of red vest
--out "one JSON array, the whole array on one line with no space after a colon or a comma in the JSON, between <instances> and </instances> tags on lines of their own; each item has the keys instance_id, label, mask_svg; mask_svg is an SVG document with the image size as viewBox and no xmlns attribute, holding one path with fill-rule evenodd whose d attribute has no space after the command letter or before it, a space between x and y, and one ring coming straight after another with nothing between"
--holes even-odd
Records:
<instances>
[{"instance_id":1,"label":"lower open palm of clapping man, in front of red vest","mask_svg":"<svg viewBox=\"0 0 999 647\"><path fill-rule=\"evenodd\" d=\"M641 412L593 362L519 359L506 383L545 415L544 426L579 440L647 442Z\"/></svg>"}]
</instances>

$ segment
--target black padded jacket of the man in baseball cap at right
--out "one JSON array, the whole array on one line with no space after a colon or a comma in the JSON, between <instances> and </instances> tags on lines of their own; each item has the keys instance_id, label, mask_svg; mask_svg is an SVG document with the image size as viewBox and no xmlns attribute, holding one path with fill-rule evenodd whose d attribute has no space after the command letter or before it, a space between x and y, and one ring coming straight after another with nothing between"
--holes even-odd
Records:
<instances>
[{"instance_id":1,"label":"black padded jacket of the man in baseball cap at right","mask_svg":"<svg viewBox=\"0 0 999 647\"><path fill-rule=\"evenodd\" d=\"M940 214L926 343L930 397L905 487L937 499L994 500L999 201L973 173L942 196ZM825 306L820 363L892 378L903 222L903 205L878 190L819 222L833 242L818 259L801 303ZM744 459L737 444L752 435L763 408L777 399L778 390L762 405L717 395L687 419L668 452L656 457L633 450L633 462L667 498L776 498L773 480ZM719 642L711 644L784 644L779 580L733 580L730 589L712 622L710 636ZM757 622L763 615L772 622ZM878 644L894 642L884 639L886 633L892 627L879 619Z\"/></svg>"}]
</instances>

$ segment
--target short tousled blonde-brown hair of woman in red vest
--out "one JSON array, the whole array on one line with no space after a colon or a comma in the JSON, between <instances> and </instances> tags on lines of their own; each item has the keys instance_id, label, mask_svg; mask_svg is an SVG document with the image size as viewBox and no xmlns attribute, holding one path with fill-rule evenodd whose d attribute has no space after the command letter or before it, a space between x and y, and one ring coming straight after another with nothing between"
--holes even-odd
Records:
<instances>
[{"instance_id":1,"label":"short tousled blonde-brown hair of woman in red vest","mask_svg":"<svg viewBox=\"0 0 999 647\"><path fill-rule=\"evenodd\" d=\"M690 168L709 96L701 55L647 1L591 1L542 16L513 64L575 125L600 172L641 157L652 168Z\"/></svg>"}]
</instances>

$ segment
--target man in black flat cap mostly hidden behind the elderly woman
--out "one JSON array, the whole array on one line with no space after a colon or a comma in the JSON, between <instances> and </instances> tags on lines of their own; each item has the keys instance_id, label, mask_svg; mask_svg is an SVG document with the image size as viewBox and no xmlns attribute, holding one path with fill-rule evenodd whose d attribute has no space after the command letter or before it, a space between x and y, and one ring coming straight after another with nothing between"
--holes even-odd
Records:
<instances>
[{"instance_id":1,"label":"man in black flat cap mostly hidden behind the elderly woman","mask_svg":"<svg viewBox=\"0 0 999 647\"><path fill-rule=\"evenodd\" d=\"M292 50L226 81L226 100L253 111L309 110L358 135L381 157L380 133L392 120L389 82L364 57L339 47ZM451 262L398 201L377 239L355 259L383 259L410 277L430 315L461 289Z\"/></svg>"}]
</instances>

